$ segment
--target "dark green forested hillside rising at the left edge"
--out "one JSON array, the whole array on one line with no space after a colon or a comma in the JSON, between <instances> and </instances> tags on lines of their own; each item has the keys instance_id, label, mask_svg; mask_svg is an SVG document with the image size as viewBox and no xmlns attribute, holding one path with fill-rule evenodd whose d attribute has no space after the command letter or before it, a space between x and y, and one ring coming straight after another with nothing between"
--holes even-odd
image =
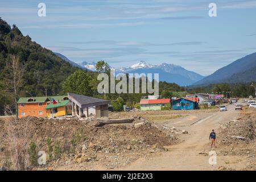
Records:
<instances>
[{"instance_id":1,"label":"dark green forested hillside rising at the left edge","mask_svg":"<svg viewBox=\"0 0 256 182\"><path fill-rule=\"evenodd\" d=\"M56 56L52 51L43 48L31 38L0 18L0 107L12 103L10 89L6 87L11 56L15 56L24 69L23 82L19 96L43 96L61 93L61 83L78 68ZM2 108L0 108L1 110Z\"/></svg>"}]
</instances>

